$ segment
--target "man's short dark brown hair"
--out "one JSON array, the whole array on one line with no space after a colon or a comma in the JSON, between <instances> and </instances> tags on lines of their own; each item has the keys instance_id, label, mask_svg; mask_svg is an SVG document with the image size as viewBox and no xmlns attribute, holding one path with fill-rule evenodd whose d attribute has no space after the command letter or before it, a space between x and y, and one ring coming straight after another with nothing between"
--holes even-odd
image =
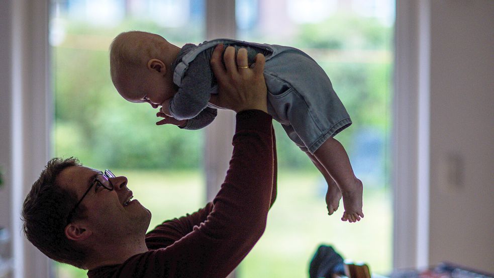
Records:
<instances>
[{"instance_id":1,"label":"man's short dark brown hair","mask_svg":"<svg viewBox=\"0 0 494 278\"><path fill-rule=\"evenodd\" d=\"M51 159L34 182L22 208L26 238L51 259L79 268L86 259L86 251L65 236L66 219L78 202L77 195L63 189L56 179L65 168L81 165L74 157ZM72 219L81 219L84 211L80 205Z\"/></svg>"}]
</instances>

